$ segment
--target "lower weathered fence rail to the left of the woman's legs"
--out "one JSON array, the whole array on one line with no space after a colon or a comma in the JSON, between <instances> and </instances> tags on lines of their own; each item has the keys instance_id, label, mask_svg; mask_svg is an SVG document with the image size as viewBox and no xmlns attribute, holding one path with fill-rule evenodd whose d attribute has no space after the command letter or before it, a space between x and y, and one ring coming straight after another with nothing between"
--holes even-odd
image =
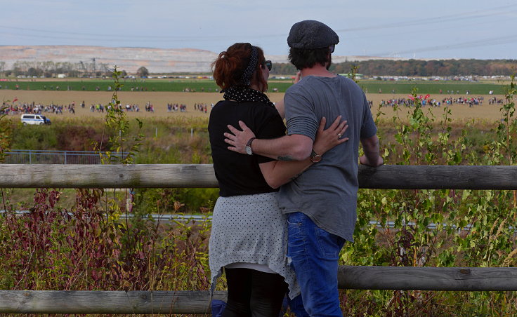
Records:
<instances>
[{"instance_id":1,"label":"lower weathered fence rail to the left of the woman's legs","mask_svg":"<svg viewBox=\"0 0 517 317\"><path fill-rule=\"evenodd\" d=\"M216 292L214 299L226 299ZM0 290L0 313L211 314L207 291Z\"/></svg>"}]
</instances>

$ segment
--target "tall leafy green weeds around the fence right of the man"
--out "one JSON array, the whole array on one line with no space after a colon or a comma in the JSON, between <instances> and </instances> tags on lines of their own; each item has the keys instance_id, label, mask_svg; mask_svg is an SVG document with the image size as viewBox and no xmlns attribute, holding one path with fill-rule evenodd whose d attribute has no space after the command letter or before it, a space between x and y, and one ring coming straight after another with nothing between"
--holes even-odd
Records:
<instances>
[{"instance_id":1,"label":"tall leafy green weeds around the fence right of the man","mask_svg":"<svg viewBox=\"0 0 517 317\"><path fill-rule=\"evenodd\" d=\"M450 109L436 118L436 104L413 90L409 120L395 109L391 142L381 134L385 163L395 165L513 165L516 120L513 81L502 121L481 147L472 147L471 123L452 137ZM407 110L407 109L404 109ZM380 107L379 107L380 111ZM436 112L435 112L436 113ZM377 116L379 118L379 116ZM481 151L481 155L480 155ZM355 243L345 246L341 264L406 267L507 267L515 264L517 217L513 191L361 189ZM377 220L380 228L370 224ZM393 227L388 224L393 224ZM436 227L429 227L436 224ZM431 229L434 228L434 229ZM361 294L358 296L357 294ZM510 316L513 292L343 291L353 316ZM454 293L455 294L455 293ZM354 304L351 304L354 303ZM372 305L377 307L372 311Z\"/></svg>"}]
</instances>

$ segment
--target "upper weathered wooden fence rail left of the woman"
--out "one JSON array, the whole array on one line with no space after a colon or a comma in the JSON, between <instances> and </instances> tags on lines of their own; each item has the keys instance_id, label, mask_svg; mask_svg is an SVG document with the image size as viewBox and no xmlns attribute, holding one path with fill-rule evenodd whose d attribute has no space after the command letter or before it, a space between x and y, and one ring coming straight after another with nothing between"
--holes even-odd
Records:
<instances>
[{"instance_id":1,"label":"upper weathered wooden fence rail left of the woman","mask_svg":"<svg viewBox=\"0 0 517 317\"><path fill-rule=\"evenodd\" d=\"M1 164L4 188L218 187L211 164Z\"/></svg>"}]
</instances>

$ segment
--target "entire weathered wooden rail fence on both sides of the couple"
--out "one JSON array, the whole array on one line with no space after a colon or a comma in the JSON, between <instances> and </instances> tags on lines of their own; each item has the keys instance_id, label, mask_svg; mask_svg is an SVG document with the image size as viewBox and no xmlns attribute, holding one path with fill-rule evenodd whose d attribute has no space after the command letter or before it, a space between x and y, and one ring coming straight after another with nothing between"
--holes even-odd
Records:
<instances>
[{"instance_id":1,"label":"entire weathered wooden rail fence on both sides of the couple","mask_svg":"<svg viewBox=\"0 0 517 317\"><path fill-rule=\"evenodd\" d=\"M360 166L369 189L517 190L517 166ZM0 188L218 187L211 164L0 164ZM339 288L517 290L516 268L339 267ZM225 292L215 297L224 299ZM211 313L208 292L0 290L0 313Z\"/></svg>"}]
</instances>

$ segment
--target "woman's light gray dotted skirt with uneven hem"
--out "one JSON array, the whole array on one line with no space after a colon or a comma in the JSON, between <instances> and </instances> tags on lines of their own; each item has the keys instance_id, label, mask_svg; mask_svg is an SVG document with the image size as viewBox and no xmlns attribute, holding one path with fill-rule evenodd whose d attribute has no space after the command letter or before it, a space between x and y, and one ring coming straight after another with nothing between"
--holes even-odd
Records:
<instances>
[{"instance_id":1,"label":"woman's light gray dotted skirt with uneven hem","mask_svg":"<svg viewBox=\"0 0 517 317\"><path fill-rule=\"evenodd\" d=\"M222 269L233 263L267 265L284 277L289 297L300 294L287 262L287 217L280 211L277 192L219 197L209 241L211 291Z\"/></svg>"}]
</instances>

